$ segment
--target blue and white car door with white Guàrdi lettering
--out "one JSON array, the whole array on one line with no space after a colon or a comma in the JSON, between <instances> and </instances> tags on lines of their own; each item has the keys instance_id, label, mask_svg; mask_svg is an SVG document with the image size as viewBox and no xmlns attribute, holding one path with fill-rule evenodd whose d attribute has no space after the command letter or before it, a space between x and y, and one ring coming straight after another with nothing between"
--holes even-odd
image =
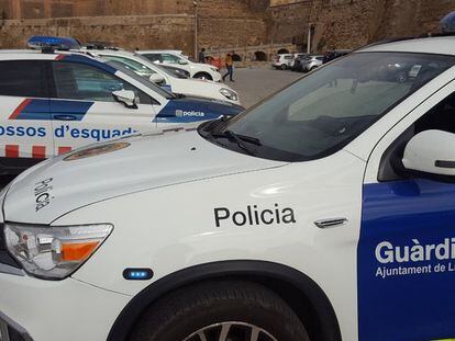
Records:
<instances>
[{"instance_id":1,"label":"blue and white car door with white Gu\u00e0rdi lettering","mask_svg":"<svg viewBox=\"0 0 455 341\"><path fill-rule=\"evenodd\" d=\"M455 338L455 181L401 162L409 140L430 129L455 134L453 82L400 121L369 158L357 249L360 341Z\"/></svg>"}]
</instances>

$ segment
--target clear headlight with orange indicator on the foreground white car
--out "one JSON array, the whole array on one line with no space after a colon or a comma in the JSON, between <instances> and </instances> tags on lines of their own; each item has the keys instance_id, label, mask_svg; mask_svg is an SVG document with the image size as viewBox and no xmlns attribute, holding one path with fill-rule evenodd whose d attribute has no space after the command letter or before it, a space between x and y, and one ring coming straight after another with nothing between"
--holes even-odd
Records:
<instances>
[{"instance_id":1,"label":"clear headlight with orange indicator on the foreground white car","mask_svg":"<svg viewBox=\"0 0 455 341\"><path fill-rule=\"evenodd\" d=\"M111 224L33 226L4 224L10 253L25 272L46 280L62 280L75 272L111 234Z\"/></svg>"}]
</instances>

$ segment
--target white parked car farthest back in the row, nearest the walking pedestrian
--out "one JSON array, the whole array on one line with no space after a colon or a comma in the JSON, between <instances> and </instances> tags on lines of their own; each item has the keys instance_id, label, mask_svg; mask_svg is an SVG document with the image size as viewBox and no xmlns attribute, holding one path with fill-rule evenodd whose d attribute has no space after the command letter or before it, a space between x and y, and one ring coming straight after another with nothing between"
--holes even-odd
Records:
<instances>
[{"instance_id":1,"label":"white parked car farthest back in the row, nearest the walking pedestrian","mask_svg":"<svg viewBox=\"0 0 455 341\"><path fill-rule=\"evenodd\" d=\"M137 50L137 54L159 65L178 66L190 72L192 78L221 81L220 70L209 64L195 62L178 50Z\"/></svg>"}]
</instances>

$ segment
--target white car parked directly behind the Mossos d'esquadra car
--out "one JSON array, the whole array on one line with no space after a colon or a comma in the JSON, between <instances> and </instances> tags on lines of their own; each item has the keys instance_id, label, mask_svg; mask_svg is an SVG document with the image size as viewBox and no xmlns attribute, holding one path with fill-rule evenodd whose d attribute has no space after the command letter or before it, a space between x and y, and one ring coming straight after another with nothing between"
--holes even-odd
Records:
<instances>
[{"instance_id":1,"label":"white car parked directly behind the Mossos d'esquadra car","mask_svg":"<svg viewBox=\"0 0 455 341\"><path fill-rule=\"evenodd\" d=\"M90 53L95 53L108 60L119 61L125 68L131 69L140 76L149 78L151 81L173 93L215 99L237 105L241 104L238 94L229 86L209 80L179 78L141 55L110 49L90 50Z\"/></svg>"}]
</instances>

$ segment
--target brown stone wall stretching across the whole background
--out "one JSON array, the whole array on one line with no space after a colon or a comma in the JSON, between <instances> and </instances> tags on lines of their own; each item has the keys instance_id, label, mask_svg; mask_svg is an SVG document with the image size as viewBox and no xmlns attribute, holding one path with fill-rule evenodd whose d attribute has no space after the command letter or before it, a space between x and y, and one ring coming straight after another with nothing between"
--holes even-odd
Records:
<instances>
[{"instance_id":1,"label":"brown stone wall stretching across the whole background","mask_svg":"<svg viewBox=\"0 0 455 341\"><path fill-rule=\"evenodd\" d=\"M455 0L200 0L199 46L290 43L312 52L355 48L437 30ZM193 50L192 0L0 0L0 47L34 34L109 41L126 48Z\"/></svg>"}]
</instances>

